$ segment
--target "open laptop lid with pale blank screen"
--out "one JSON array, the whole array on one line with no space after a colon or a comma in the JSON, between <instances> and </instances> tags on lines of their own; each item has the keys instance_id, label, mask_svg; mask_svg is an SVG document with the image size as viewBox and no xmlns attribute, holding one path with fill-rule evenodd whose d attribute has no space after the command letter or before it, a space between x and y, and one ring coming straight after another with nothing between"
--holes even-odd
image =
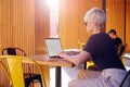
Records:
<instances>
[{"instance_id":1,"label":"open laptop lid with pale blank screen","mask_svg":"<svg viewBox=\"0 0 130 87\"><path fill-rule=\"evenodd\" d=\"M50 58L56 57L63 51L60 38L46 38L44 41Z\"/></svg>"}]
</instances>

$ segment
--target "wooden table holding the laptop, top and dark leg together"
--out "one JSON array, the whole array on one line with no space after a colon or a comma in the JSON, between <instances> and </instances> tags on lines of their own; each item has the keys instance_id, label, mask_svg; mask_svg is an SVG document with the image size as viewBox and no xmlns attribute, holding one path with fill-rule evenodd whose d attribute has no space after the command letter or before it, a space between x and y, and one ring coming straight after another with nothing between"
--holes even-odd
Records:
<instances>
[{"instance_id":1,"label":"wooden table holding the laptop, top and dark leg together","mask_svg":"<svg viewBox=\"0 0 130 87\"><path fill-rule=\"evenodd\" d=\"M61 67L74 66L73 63L64 59L49 58L47 54L34 55L32 59L36 60L41 65L55 66L55 87L62 87Z\"/></svg>"}]
</instances>

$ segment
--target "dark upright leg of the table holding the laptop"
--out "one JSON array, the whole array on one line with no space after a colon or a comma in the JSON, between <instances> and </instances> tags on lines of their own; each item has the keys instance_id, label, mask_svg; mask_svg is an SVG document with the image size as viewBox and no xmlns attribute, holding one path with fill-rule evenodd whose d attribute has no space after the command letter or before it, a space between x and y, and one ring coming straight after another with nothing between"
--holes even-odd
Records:
<instances>
[{"instance_id":1,"label":"dark upright leg of the table holding the laptop","mask_svg":"<svg viewBox=\"0 0 130 87\"><path fill-rule=\"evenodd\" d=\"M62 87L61 66L55 66L55 87Z\"/></svg>"}]
</instances>

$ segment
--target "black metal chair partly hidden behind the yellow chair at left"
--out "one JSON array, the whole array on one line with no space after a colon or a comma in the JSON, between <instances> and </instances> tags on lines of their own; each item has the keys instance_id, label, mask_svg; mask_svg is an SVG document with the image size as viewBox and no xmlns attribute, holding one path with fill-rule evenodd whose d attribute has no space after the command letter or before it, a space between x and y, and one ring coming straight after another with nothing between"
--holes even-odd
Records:
<instances>
[{"instance_id":1,"label":"black metal chair partly hidden behind the yellow chair at left","mask_svg":"<svg viewBox=\"0 0 130 87\"><path fill-rule=\"evenodd\" d=\"M22 57L27 57L25 51L21 48L4 48L2 49L2 55L22 55ZM35 74L31 72L30 70L30 64L27 64L28 66L28 73L24 73L24 77L25 77L25 87L29 87L29 85L31 83L40 83L41 87L43 87L42 85L42 80L41 80L41 76L40 74Z\"/></svg>"}]
</instances>

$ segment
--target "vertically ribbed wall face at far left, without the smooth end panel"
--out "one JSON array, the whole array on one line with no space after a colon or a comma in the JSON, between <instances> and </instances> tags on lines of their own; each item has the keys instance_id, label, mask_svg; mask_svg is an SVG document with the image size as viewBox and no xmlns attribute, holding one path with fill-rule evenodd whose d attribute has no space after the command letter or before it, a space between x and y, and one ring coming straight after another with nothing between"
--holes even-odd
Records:
<instances>
[{"instance_id":1,"label":"vertically ribbed wall face at far left, without the smooth end panel","mask_svg":"<svg viewBox=\"0 0 130 87\"><path fill-rule=\"evenodd\" d=\"M1 49L18 47L27 55L34 54L35 14L34 1L0 0Z\"/></svg>"}]
</instances>

